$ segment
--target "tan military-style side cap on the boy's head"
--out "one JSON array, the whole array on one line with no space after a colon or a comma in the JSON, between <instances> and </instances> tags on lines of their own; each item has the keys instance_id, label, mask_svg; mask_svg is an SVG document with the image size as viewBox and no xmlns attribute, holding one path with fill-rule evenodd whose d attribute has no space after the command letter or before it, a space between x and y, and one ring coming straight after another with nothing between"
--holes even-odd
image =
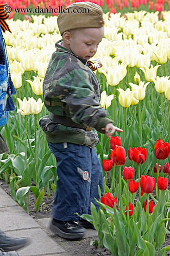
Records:
<instances>
[{"instance_id":1,"label":"tan military-style side cap on the boy's head","mask_svg":"<svg viewBox=\"0 0 170 256\"><path fill-rule=\"evenodd\" d=\"M102 27L102 8L91 2L76 2L63 9L57 18L60 34L75 28Z\"/></svg>"}]
</instances>

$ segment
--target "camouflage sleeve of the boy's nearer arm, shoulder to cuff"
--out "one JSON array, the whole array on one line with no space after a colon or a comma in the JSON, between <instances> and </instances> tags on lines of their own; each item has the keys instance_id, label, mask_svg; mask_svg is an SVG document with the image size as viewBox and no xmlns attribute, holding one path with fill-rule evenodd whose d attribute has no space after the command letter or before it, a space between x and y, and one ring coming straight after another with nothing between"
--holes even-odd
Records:
<instances>
[{"instance_id":1,"label":"camouflage sleeve of the boy's nearer arm, shoulder to cuff","mask_svg":"<svg viewBox=\"0 0 170 256\"><path fill-rule=\"evenodd\" d=\"M56 68L50 81L48 75L45 77L44 104L55 115L69 116L76 123L94 127L104 133L101 128L112 120L106 118L107 111L100 106L91 75L86 68L82 68L84 64L82 67L78 64L72 65L66 60L63 67Z\"/></svg>"}]
</instances>

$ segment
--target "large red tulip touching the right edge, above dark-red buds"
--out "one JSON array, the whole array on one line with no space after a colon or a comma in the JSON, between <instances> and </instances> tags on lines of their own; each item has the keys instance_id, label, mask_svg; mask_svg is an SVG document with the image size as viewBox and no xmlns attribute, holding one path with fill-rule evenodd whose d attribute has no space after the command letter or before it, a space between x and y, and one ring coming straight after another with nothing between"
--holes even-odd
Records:
<instances>
[{"instance_id":1,"label":"large red tulip touching the right edge, above dark-red buds","mask_svg":"<svg viewBox=\"0 0 170 256\"><path fill-rule=\"evenodd\" d=\"M165 159L170 154L170 144L164 142L162 139L158 139L154 146L155 156L157 159Z\"/></svg>"}]
</instances>

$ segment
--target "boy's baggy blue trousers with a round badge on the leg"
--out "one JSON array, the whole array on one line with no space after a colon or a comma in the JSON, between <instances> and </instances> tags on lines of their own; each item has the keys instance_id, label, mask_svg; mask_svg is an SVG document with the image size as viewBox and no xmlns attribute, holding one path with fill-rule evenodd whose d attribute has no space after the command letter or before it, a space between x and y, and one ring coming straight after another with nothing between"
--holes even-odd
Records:
<instances>
[{"instance_id":1,"label":"boy's baggy blue trousers with a round badge on the leg","mask_svg":"<svg viewBox=\"0 0 170 256\"><path fill-rule=\"evenodd\" d=\"M60 221L78 221L79 215L91 214L90 202L99 205L98 185L103 195L103 173L95 149L73 143L51 143L57 160L57 189L52 216Z\"/></svg>"}]
</instances>

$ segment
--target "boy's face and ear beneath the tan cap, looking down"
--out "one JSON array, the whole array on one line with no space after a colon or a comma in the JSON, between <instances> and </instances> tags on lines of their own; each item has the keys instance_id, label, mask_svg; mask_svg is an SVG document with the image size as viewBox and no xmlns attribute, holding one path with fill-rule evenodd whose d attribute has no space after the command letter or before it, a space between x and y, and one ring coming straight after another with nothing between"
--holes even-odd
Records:
<instances>
[{"instance_id":1,"label":"boy's face and ear beneath the tan cap, looking down","mask_svg":"<svg viewBox=\"0 0 170 256\"><path fill-rule=\"evenodd\" d=\"M75 55L84 59L90 59L97 52L97 47L104 35L104 27L80 28L70 32L67 46Z\"/></svg>"}]
</instances>

